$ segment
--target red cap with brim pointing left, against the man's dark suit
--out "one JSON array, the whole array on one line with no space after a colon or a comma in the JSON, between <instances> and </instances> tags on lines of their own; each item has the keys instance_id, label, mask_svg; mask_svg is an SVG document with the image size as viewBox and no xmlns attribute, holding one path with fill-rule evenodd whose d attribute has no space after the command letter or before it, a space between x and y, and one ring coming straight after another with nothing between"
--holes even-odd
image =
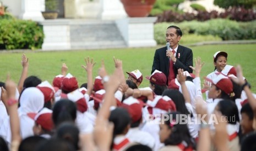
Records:
<instances>
[{"instance_id":1,"label":"red cap with brim pointing left, against the man's dark suit","mask_svg":"<svg viewBox=\"0 0 256 151\"><path fill-rule=\"evenodd\" d=\"M166 85L167 80L165 74L157 69L150 75L150 77L146 77L146 79L157 85Z\"/></svg>"}]
</instances>

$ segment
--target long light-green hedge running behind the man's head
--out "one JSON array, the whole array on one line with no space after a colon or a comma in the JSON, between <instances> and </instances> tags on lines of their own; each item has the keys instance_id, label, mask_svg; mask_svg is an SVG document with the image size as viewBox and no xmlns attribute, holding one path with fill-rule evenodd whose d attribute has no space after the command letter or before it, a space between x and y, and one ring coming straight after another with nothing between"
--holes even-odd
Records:
<instances>
[{"instance_id":1,"label":"long light-green hedge running behind the man's head","mask_svg":"<svg viewBox=\"0 0 256 151\"><path fill-rule=\"evenodd\" d=\"M162 22L154 26L154 38L157 44L165 44L166 28L176 25L181 28L184 37L190 34L198 35L190 38L188 42L203 42L205 40L244 40L256 39L256 21L236 22L228 19L213 19L209 21L183 21L179 23ZM202 37L203 36L203 37ZM208 36L207 38L204 36ZM188 38L189 39L189 38Z\"/></svg>"}]
</instances>

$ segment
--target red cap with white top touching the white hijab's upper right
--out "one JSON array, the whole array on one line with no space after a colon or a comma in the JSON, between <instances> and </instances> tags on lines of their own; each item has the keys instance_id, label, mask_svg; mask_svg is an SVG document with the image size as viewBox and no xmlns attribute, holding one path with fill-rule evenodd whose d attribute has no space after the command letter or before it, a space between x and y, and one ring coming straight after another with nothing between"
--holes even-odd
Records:
<instances>
[{"instance_id":1,"label":"red cap with white top touching the white hijab's upper right","mask_svg":"<svg viewBox=\"0 0 256 151\"><path fill-rule=\"evenodd\" d=\"M43 96L45 96L45 102L50 101L54 97L55 89L49 82L44 81L37 85L36 88L38 88L43 93Z\"/></svg>"}]
</instances>

